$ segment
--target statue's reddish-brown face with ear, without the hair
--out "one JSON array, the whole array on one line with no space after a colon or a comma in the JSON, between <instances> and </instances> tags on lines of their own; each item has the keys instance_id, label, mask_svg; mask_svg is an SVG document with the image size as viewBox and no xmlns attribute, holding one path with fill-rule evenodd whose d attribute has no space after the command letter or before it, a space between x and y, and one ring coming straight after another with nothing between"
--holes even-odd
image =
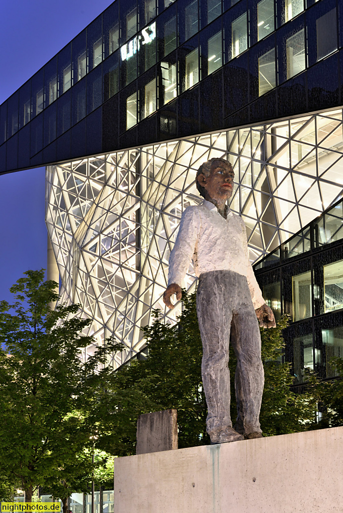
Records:
<instances>
[{"instance_id":1,"label":"statue's reddish-brown face with ear, without the hair","mask_svg":"<svg viewBox=\"0 0 343 513\"><path fill-rule=\"evenodd\" d=\"M208 176L199 174L197 180L206 189L209 196L207 199L215 200L216 203L224 203L231 198L234 190L234 170L229 163L214 161L211 166L211 173Z\"/></svg>"}]
</instances>

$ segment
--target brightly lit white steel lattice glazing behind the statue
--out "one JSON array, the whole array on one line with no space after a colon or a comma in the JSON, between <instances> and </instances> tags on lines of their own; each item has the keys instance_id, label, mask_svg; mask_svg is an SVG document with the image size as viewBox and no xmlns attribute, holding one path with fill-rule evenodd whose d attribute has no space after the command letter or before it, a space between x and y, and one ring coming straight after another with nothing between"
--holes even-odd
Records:
<instances>
[{"instance_id":1,"label":"brightly lit white steel lattice glazing behind the statue","mask_svg":"<svg viewBox=\"0 0 343 513\"><path fill-rule=\"evenodd\" d=\"M336 201L343 188L342 111L117 151L47 168L46 223L62 279L61 302L80 303L97 344L112 336L142 349L140 328L165 309L168 258L183 210L202 201L200 164L234 166L231 208L247 227L251 260L287 240ZM194 290L192 266L185 287ZM85 351L91 354L94 347Z\"/></svg>"}]
</instances>

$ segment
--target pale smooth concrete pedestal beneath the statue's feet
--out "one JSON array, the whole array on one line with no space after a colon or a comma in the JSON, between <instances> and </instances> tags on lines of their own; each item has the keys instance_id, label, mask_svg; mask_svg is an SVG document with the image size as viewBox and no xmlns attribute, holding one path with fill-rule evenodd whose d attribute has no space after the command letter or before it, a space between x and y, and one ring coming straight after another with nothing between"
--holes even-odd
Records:
<instances>
[{"instance_id":1,"label":"pale smooth concrete pedestal beneath the statue's feet","mask_svg":"<svg viewBox=\"0 0 343 513\"><path fill-rule=\"evenodd\" d=\"M342 513L343 427L115 459L120 513Z\"/></svg>"}]
</instances>

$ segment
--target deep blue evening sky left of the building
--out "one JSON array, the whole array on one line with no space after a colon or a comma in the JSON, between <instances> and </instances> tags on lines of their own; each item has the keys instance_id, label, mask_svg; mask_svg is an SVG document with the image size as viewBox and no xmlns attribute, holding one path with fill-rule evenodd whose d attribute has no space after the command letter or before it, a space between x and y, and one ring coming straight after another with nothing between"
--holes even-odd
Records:
<instances>
[{"instance_id":1,"label":"deep blue evening sky left of the building","mask_svg":"<svg viewBox=\"0 0 343 513\"><path fill-rule=\"evenodd\" d=\"M0 104L111 0L0 2ZM0 176L0 300L27 269L46 268L45 168Z\"/></svg>"}]
</instances>

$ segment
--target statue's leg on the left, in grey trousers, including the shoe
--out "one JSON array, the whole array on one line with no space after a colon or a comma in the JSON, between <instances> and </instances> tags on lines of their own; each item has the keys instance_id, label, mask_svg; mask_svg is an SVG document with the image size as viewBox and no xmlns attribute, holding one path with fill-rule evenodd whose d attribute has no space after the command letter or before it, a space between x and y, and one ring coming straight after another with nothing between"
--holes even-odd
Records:
<instances>
[{"instance_id":1,"label":"statue's leg on the left, in grey trousers, including the shoe","mask_svg":"<svg viewBox=\"0 0 343 513\"><path fill-rule=\"evenodd\" d=\"M208 415L206 429L213 443L241 440L230 418L228 346L232 309L226 271L203 273L197 290L197 314L203 346L202 381Z\"/></svg>"}]
</instances>

